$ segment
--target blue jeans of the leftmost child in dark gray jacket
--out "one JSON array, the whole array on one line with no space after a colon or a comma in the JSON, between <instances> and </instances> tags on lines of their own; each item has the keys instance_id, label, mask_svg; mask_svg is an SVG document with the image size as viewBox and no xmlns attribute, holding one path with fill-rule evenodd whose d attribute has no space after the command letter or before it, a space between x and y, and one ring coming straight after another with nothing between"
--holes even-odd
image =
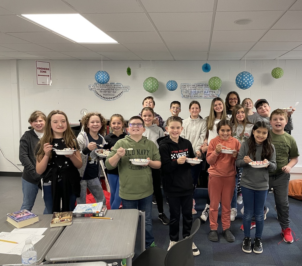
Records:
<instances>
[{"instance_id":1,"label":"blue jeans of the leftmost child in dark gray jacket","mask_svg":"<svg viewBox=\"0 0 302 266\"><path fill-rule=\"evenodd\" d=\"M23 192L23 204L20 210L29 210L31 211L34 207L35 200L39 191L39 187L36 184L32 184L21 178L22 180L22 192ZM45 205L45 209L43 214L48 214L47 208Z\"/></svg>"}]
</instances>

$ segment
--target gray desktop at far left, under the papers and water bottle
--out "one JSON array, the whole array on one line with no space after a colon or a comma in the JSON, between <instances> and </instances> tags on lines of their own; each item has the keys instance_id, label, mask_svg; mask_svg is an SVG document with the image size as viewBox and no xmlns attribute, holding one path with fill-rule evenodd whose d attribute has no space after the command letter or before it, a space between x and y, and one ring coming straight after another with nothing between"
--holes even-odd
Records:
<instances>
[{"instance_id":1,"label":"gray desktop at far left, under the papers and water bottle","mask_svg":"<svg viewBox=\"0 0 302 266\"><path fill-rule=\"evenodd\" d=\"M44 260L45 254L49 251L50 247L56 241L65 226L50 228L50 221L53 217L52 214L39 215L40 221L23 228L47 228L43 233L43 238L35 244L37 249L37 264ZM11 232L16 227L6 221L7 217L3 217L0 220L0 232ZM22 265L21 255L11 255L0 253L0 264L1 265Z\"/></svg>"}]
</instances>

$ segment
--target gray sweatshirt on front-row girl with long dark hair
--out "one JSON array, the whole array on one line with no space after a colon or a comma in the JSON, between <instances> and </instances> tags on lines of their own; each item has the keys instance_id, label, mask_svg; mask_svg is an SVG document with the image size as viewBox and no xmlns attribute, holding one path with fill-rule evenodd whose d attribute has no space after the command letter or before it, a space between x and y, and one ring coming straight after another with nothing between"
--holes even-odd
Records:
<instances>
[{"instance_id":1,"label":"gray sweatshirt on front-row girl with long dark hair","mask_svg":"<svg viewBox=\"0 0 302 266\"><path fill-rule=\"evenodd\" d=\"M273 144L271 146L274 149L271 158L264 158L270 162L270 165L267 168L253 168L243 161L244 156L246 156L249 152L249 144L248 141L244 141L242 143L236 159L236 166L239 168L243 167L240 180L241 186L253 190L268 190L268 171L274 171L277 168L275 147ZM262 145L256 144L256 161L262 161L262 147Z\"/></svg>"}]
</instances>

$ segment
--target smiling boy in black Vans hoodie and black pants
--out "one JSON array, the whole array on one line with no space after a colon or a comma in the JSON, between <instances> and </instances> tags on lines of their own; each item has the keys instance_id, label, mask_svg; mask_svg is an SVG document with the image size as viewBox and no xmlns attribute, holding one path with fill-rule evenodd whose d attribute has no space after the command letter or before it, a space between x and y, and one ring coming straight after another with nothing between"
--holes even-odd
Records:
<instances>
[{"instance_id":1,"label":"smiling boy in black Vans hoodie and black pants","mask_svg":"<svg viewBox=\"0 0 302 266\"><path fill-rule=\"evenodd\" d=\"M191 142L180 137L183 130L180 117L169 117L165 129L169 136L159 138L157 142L162 161L162 187L165 195L169 197L169 250L179 239L180 212L182 212L182 236L183 238L190 236L194 186L191 165L186 162L186 158L194 158L195 155ZM200 254L194 242L192 250L194 256Z\"/></svg>"}]
</instances>

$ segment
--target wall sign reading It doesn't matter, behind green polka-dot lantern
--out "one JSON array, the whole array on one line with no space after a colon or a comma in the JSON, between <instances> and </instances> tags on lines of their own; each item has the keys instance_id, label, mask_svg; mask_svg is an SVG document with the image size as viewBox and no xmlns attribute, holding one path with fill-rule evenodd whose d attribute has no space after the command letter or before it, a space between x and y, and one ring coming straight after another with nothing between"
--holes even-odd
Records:
<instances>
[{"instance_id":1,"label":"wall sign reading It doesn't matter, behind green polka-dot lantern","mask_svg":"<svg viewBox=\"0 0 302 266\"><path fill-rule=\"evenodd\" d=\"M182 83L180 84L182 91L182 98L204 98L214 99L219 97L221 88L218 90L212 90L207 83Z\"/></svg>"}]
</instances>

